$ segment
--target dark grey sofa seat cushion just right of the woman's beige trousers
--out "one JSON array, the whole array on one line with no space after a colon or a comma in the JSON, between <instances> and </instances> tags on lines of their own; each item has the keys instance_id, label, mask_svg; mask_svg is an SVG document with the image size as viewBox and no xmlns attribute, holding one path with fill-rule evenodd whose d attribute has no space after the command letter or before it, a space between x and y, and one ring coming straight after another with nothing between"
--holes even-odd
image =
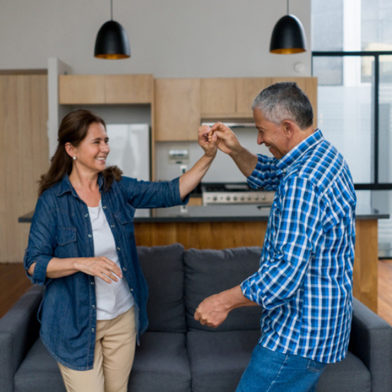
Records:
<instances>
[{"instance_id":1,"label":"dark grey sofa seat cushion just right of the woman's beige trousers","mask_svg":"<svg viewBox=\"0 0 392 392\"><path fill-rule=\"evenodd\" d=\"M128 390L190 392L191 368L184 333L146 332L136 348Z\"/></svg>"}]
</instances>

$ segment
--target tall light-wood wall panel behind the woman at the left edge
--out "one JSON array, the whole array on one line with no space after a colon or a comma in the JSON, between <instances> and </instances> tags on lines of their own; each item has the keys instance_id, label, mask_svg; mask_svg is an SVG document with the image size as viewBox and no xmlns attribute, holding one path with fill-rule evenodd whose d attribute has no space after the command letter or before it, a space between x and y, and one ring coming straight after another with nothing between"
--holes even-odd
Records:
<instances>
[{"instance_id":1,"label":"tall light-wood wall panel behind the woman at the left edge","mask_svg":"<svg viewBox=\"0 0 392 392\"><path fill-rule=\"evenodd\" d=\"M0 76L0 262L23 261L37 181L49 167L47 76Z\"/></svg>"}]
</instances>

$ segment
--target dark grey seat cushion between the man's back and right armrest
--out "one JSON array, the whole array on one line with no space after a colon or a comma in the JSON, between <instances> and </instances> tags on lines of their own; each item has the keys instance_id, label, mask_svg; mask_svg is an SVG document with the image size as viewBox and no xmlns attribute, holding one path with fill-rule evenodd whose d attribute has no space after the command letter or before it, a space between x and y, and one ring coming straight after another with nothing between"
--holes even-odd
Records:
<instances>
[{"instance_id":1,"label":"dark grey seat cushion between the man's back and right armrest","mask_svg":"<svg viewBox=\"0 0 392 392\"><path fill-rule=\"evenodd\" d=\"M369 369L358 357L348 351L343 361L328 364L317 384L317 392L370 392L371 383Z\"/></svg>"}]
</instances>

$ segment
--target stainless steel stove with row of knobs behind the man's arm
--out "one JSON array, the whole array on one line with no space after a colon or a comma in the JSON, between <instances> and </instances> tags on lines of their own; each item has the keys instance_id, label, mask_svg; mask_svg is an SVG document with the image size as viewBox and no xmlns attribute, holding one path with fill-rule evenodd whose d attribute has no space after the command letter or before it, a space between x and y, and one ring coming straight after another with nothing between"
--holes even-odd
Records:
<instances>
[{"instance_id":1,"label":"stainless steel stove with row of knobs behind the man's arm","mask_svg":"<svg viewBox=\"0 0 392 392\"><path fill-rule=\"evenodd\" d=\"M257 204L269 207L273 203L275 192L265 189L252 189L244 183L210 182L201 184L203 206L211 204Z\"/></svg>"}]
</instances>

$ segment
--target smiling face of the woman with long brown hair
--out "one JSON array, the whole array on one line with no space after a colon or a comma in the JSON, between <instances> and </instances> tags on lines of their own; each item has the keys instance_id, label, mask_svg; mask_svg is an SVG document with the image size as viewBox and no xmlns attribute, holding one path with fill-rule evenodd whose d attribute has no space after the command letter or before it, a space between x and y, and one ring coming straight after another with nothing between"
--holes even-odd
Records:
<instances>
[{"instance_id":1,"label":"smiling face of the woman with long brown hair","mask_svg":"<svg viewBox=\"0 0 392 392\"><path fill-rule=\"evenodd\" d=\"M109 138L105 127L95 122L90 125L87 135L78 147L73 148L73 156L76 156L73 163L80 169L99 173L106 168L109 151Z\"/></svg>"}]
</instances>

